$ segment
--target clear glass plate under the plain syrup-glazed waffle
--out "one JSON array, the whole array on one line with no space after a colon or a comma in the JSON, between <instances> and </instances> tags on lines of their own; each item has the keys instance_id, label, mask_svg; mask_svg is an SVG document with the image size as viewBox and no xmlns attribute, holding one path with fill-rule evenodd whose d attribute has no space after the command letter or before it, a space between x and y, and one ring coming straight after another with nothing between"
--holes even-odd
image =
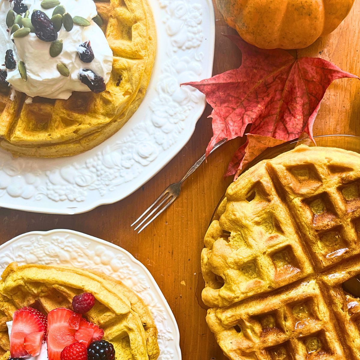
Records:
<instances>
[{"instance_id":1,"label":"clear glass plate under the plain syrup-glazed waffle","mask_svg":"<svg viewBox=\"0 0 360 360\"><path fill-rule=\"evenodd\" d=\"M301 139L295 141L289 141L288 143L278 145L274 148L267 149L264 151L260 156L255 158L252 162L246 166L242 173L247 169L251 168L252 166L256 165L258 162L265 160L265 159L273 159L274 157L283 154L287 151L290 151L296 148L299 145L308 145L308 146L321 146L321 147L328 147L328 148L341 148L345 150L354 151L356 153L360 153L360 137L353 136L353 135L321 135L321 136L314 136L314 140L316 145L309 139ZM224 200L225 194L222 196L221 200L216 206L215 212L211 218L213 220L219 220L219 216L217 215L217 210Z\"/></svg>"}]
</instances>

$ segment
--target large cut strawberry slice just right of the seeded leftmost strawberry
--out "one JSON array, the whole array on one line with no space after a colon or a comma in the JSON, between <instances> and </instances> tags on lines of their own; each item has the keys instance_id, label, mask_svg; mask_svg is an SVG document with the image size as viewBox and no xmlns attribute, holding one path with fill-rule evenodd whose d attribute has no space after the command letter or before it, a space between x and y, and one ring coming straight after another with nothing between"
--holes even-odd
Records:
<instances>
[{"instance_id":1,"label":"large cut strawberry slice just right of the seeded leftmost strawberry","mask_svg":"<svg viewBox=\"0 0 360 360\"><path fill-rule=\"evenodd\" d=\"M60 360L64 348L76 342L74 329L69 329L69 320L75 312L59 307L48 314L48 358Z\"/></svg>"}]
</instances>

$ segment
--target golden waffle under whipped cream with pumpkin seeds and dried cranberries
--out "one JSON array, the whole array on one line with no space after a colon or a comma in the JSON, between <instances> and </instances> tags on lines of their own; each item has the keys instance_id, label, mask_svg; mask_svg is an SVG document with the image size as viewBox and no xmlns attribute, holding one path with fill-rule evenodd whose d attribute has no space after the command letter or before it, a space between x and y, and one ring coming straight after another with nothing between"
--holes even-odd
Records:
<instances>
[{"instance_id":1,"label":"golden waffle under whipped cream with pumpkin seeds and dried cranberries","mask_svg":"<svg viewBox=\"0 0 360 360\"><path fill-rule=\"evenodd\" d=\"M71 156L117 132L138 109L150 81L156 29L147 0L96 1L114 62L106 90L74 92L68 100L34 98L0 89L0 147L15 156Z\"/></svg>"}]
</instances>

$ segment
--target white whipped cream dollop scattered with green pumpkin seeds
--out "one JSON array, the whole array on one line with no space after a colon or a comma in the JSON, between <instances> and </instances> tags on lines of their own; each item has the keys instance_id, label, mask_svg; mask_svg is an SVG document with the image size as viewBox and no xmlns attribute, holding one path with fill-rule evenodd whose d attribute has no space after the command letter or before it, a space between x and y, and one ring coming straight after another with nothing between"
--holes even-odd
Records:
<instances>
[{"instance_id":1,"label":"white whipped cream dollop scattered with green pumpkin seeds","mask_svg":"<svg viewBox=\"0 0 360 360\"><path fill-rule=\"evenodd\" d=\"M42 0L23 0L31 18L34 9L41 10L51 19L54 8L41 7ZM83 69L90 69L97 76L103 77L105 84L109 81L113 53L101 28L92 20L96 15L96 6L93 0L60 0L66 12L80 16L90 22L90 26L78 26L74 23L71 31L66 31L64 26L58 32L58 40L63 41L63 50L55 58L50 56L51 42L40 40L35 33L18 37L12 42L10 29L6 28L6 15L13 8L14 2L0 0L0 64L4 64L5 52L14 51L17 62L15 69L7 71L6 81L17 91L26 93L30 97L42 96L50 99L68 99L72 91L91 91L88 86L80 81L79 73ZM22 14L23 15L23 14ZM94 59L84 63L78 55L79 45L90 41L94 52ZM24 81L18 70L18 63L22 61L26 67L27 81ZM63 63L69 70L69 76L63 76L57 69L57 64ZM4 70L1 66L1 70Z\"/></svg>"}]
</instances>

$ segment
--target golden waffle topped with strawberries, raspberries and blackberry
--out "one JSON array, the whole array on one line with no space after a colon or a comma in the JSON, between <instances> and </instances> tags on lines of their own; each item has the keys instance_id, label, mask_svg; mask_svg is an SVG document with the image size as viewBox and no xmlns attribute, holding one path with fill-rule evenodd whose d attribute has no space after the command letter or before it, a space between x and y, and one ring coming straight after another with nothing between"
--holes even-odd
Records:
<instances>
[{"instance_id":1,"label":"golden waffle topped with strawberries, raspberries and blackberry","mask_svg":"<svg viewBox=\"0 0 360 360\"><path fill-rule=\"evenodd\" d=\"M0 357L9 359L6 321L24 306L48 313L58 307L72 309L72 298L83 292L95 296L86 318L104 330L115 348L116 360L156 360L159 356L153 317L131 289L95 271L44 265L10 264L0 282Z\"/></svg>"}]
</instances>

